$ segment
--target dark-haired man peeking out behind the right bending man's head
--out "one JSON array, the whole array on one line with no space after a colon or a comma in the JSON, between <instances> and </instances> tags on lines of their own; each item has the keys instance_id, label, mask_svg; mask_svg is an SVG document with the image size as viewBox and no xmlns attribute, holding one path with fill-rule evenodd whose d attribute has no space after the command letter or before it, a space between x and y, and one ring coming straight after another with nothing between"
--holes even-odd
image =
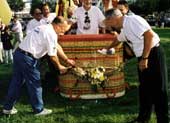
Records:
<instances>
[{"instance_id":1,"label":"dark-haired man peeking out behind the right bending man's head","mask_svg":"<svg viewBox=\"0 0 170 123\"><path fill-rule=\"evenodd\" d=\"M126 0L120 0L118 2L117 8L121 11L123 15L133 15L134 13L129 9L128 2Z\"/></svg>"}]
</instances>

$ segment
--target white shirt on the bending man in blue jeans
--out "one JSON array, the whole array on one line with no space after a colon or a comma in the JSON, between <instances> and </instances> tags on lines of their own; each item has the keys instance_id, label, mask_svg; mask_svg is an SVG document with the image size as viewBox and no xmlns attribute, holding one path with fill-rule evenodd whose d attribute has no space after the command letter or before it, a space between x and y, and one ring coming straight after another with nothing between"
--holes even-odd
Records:
<instances>
[{"instance_id":1,"label":"white shirt on the bending man in blue jeans","mask_svg":"<svg viewBox=\"0 0 170 123\"><path fill-rule=\"evenodd\" d=\"M19 48L31 53L39 59L45 54L57 55L57 34L51 24L45 24L34 28L19 44Z\"/></svg>"}]
</instances>

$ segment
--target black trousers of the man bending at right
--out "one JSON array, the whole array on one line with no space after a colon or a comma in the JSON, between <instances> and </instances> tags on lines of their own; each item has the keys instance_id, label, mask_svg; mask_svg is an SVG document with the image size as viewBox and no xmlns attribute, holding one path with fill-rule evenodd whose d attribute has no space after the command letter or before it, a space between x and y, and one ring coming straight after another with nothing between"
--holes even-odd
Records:
<instances>
[{"instance_id":1,"label":"black trousers of the man bending at right","mask_svg":"<svg viewBox=\"0 0 170 123\"><path fill-rule=\"evenodd\" d=\"M140 61L141 58L138 58ZM168 123L168 96L167 96L167 66L163 49L152 48L148 68L144 71L138 69L139 74L139 117L148 121L154 106L157 123Z\"/></svg>"}]
</instances>

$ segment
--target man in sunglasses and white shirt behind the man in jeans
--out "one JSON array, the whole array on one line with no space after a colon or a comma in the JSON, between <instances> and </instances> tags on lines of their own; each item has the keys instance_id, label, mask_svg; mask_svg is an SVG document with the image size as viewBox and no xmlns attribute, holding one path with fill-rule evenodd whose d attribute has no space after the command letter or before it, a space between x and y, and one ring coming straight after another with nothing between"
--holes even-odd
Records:
<instances>
[{"instance_id":1,"label":"man in sunglasses and white shirt behind the man in jeans","mask_svg":"<svg viewBox=\"0 0 170 123\"><path fill-rule=\"evenodd\" d=\"M32 29L43 24L42 12L39 8L35 8L32 13L33 19L27 24L26 34L30 33Z\"/></svg>"}]
</instances>

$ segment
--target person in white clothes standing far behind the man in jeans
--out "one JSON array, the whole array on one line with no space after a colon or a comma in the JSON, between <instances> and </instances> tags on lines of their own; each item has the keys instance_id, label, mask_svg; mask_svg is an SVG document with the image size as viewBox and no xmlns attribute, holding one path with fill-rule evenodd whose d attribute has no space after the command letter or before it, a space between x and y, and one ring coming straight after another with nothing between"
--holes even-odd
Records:
<instances>
[{"instance_id":1,"label":"person in white clothes standing far behind the man in jeans","mask_svg":"<svg viewBox=\"0 0 170 123\"><path fill-rule=\"evenodd\" d=\"M11 30L15 34L15 41L16 41L15 46L14 46L14 51L15 51L15 49L18 47L19 43L21 43L23 41L22 25L16 15L14 15L14 17L13 17Z\"/></svg>"}]
</instances>

